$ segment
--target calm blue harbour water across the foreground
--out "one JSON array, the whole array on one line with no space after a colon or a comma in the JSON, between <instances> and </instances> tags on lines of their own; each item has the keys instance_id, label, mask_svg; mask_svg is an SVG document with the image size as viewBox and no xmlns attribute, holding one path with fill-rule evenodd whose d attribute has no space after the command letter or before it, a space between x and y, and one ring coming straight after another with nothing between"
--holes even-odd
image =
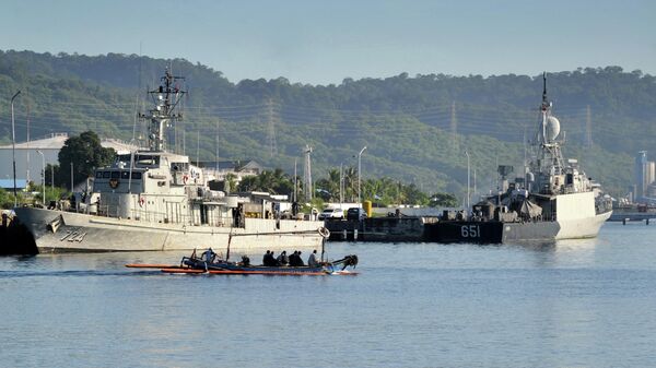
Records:
<instances>
[{"instance_id":1,"label":"calm blue harbour water across the foreground","mask_svg":"<svg viewBox=\"0 0 656 368\"><path fill-rule=\"evenodd\" d=\"M358 276L165 275L180 253L0 258L4 367L647 367L656 226L557 245L330 244Z\"/></svg>"}]
</instances>

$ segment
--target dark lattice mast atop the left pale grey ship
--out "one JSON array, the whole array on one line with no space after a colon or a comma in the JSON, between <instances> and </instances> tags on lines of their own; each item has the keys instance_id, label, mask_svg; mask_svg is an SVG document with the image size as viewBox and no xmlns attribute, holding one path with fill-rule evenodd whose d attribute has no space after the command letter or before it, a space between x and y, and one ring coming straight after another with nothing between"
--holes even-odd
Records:
<instances>
[{"instance_id":1,"label":"dark lattice mast atop the left pale grey ship","mask_svg":"<svg viewBox=\"0 0 656 368\"><path fill-rule=\"evenodd\" d=\"M187 91L178 86L178 81L184 81L184 76L171 74L168 69L164 76L160 79L161 85L149 91L154 108L148 115L140 114L139 118L149 120L148 124L148 149L152 152L166 151L165 129L175 121L183 119L181 112L176 112L181 97Z\"/></svg>"}]
</instances>

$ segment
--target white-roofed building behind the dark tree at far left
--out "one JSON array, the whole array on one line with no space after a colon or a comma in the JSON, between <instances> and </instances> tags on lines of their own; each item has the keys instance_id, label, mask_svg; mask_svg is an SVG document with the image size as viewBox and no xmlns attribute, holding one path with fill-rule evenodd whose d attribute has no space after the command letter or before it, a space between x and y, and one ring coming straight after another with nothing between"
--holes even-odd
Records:
<instances>
[{"instance_id":1,"label":"white-roofed building behind the dark tree at far left","mask_svg":"<svg viewBox=\"0 0 656 368\"><path fill-rule=\"evenodd\" d=\"M52 133L35 141L16 143L16 179L40 183L43 167L48 164L59 165L59 150L68 138L67 133ZM137 149L129 143L114 139L102 140L101 144L104 147L112 147L118 153L127 153ZM43 153L43 158L39 151ZM0 146L0 179L13 179L11 144Z\"/></svg>"}]
</instances>

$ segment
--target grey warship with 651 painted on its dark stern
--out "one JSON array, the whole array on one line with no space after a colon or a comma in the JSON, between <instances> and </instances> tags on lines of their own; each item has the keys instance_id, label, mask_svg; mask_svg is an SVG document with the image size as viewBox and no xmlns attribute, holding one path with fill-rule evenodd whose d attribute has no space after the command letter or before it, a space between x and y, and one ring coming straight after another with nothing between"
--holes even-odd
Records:
<instances>
[{"instance_id":1,"label":"grey warship with 651 painted on its dark stern","mask_svg":"<svg viewBox=\"0 0 656 368\"><path fill-rule=\"evenodd\" d=\"M611 199L576 159L564 159L564 133L551 111L546 73L542 80L540 119L523 175L508 180L514 168L499 166L497 193L475 204L471 212L445 212L437 223L426 224L426 240L499 244L597 236L612 214Z\"/></svg>"}]
</instances>

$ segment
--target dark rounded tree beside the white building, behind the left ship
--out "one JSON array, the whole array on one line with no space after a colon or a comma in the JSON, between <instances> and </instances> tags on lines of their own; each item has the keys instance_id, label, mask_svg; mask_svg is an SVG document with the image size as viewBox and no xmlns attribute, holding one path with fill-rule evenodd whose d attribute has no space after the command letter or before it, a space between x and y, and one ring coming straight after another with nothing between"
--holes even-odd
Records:
<instances>
[{"instance_id":1,"label":"dark rounded tree beside the white building, behind the left ship","mask_svg":"<svg viewBox=\"0 0 656 368\"><path fill-rule=\"evenodd\" d=\"M92 131L71 136L59 151L59 183L70 186L71 163L73 182L78 183L92 176L96 167L110 165L115 157L116 151L103 147L101 139Z\"/></svg>"}]
</instances>

